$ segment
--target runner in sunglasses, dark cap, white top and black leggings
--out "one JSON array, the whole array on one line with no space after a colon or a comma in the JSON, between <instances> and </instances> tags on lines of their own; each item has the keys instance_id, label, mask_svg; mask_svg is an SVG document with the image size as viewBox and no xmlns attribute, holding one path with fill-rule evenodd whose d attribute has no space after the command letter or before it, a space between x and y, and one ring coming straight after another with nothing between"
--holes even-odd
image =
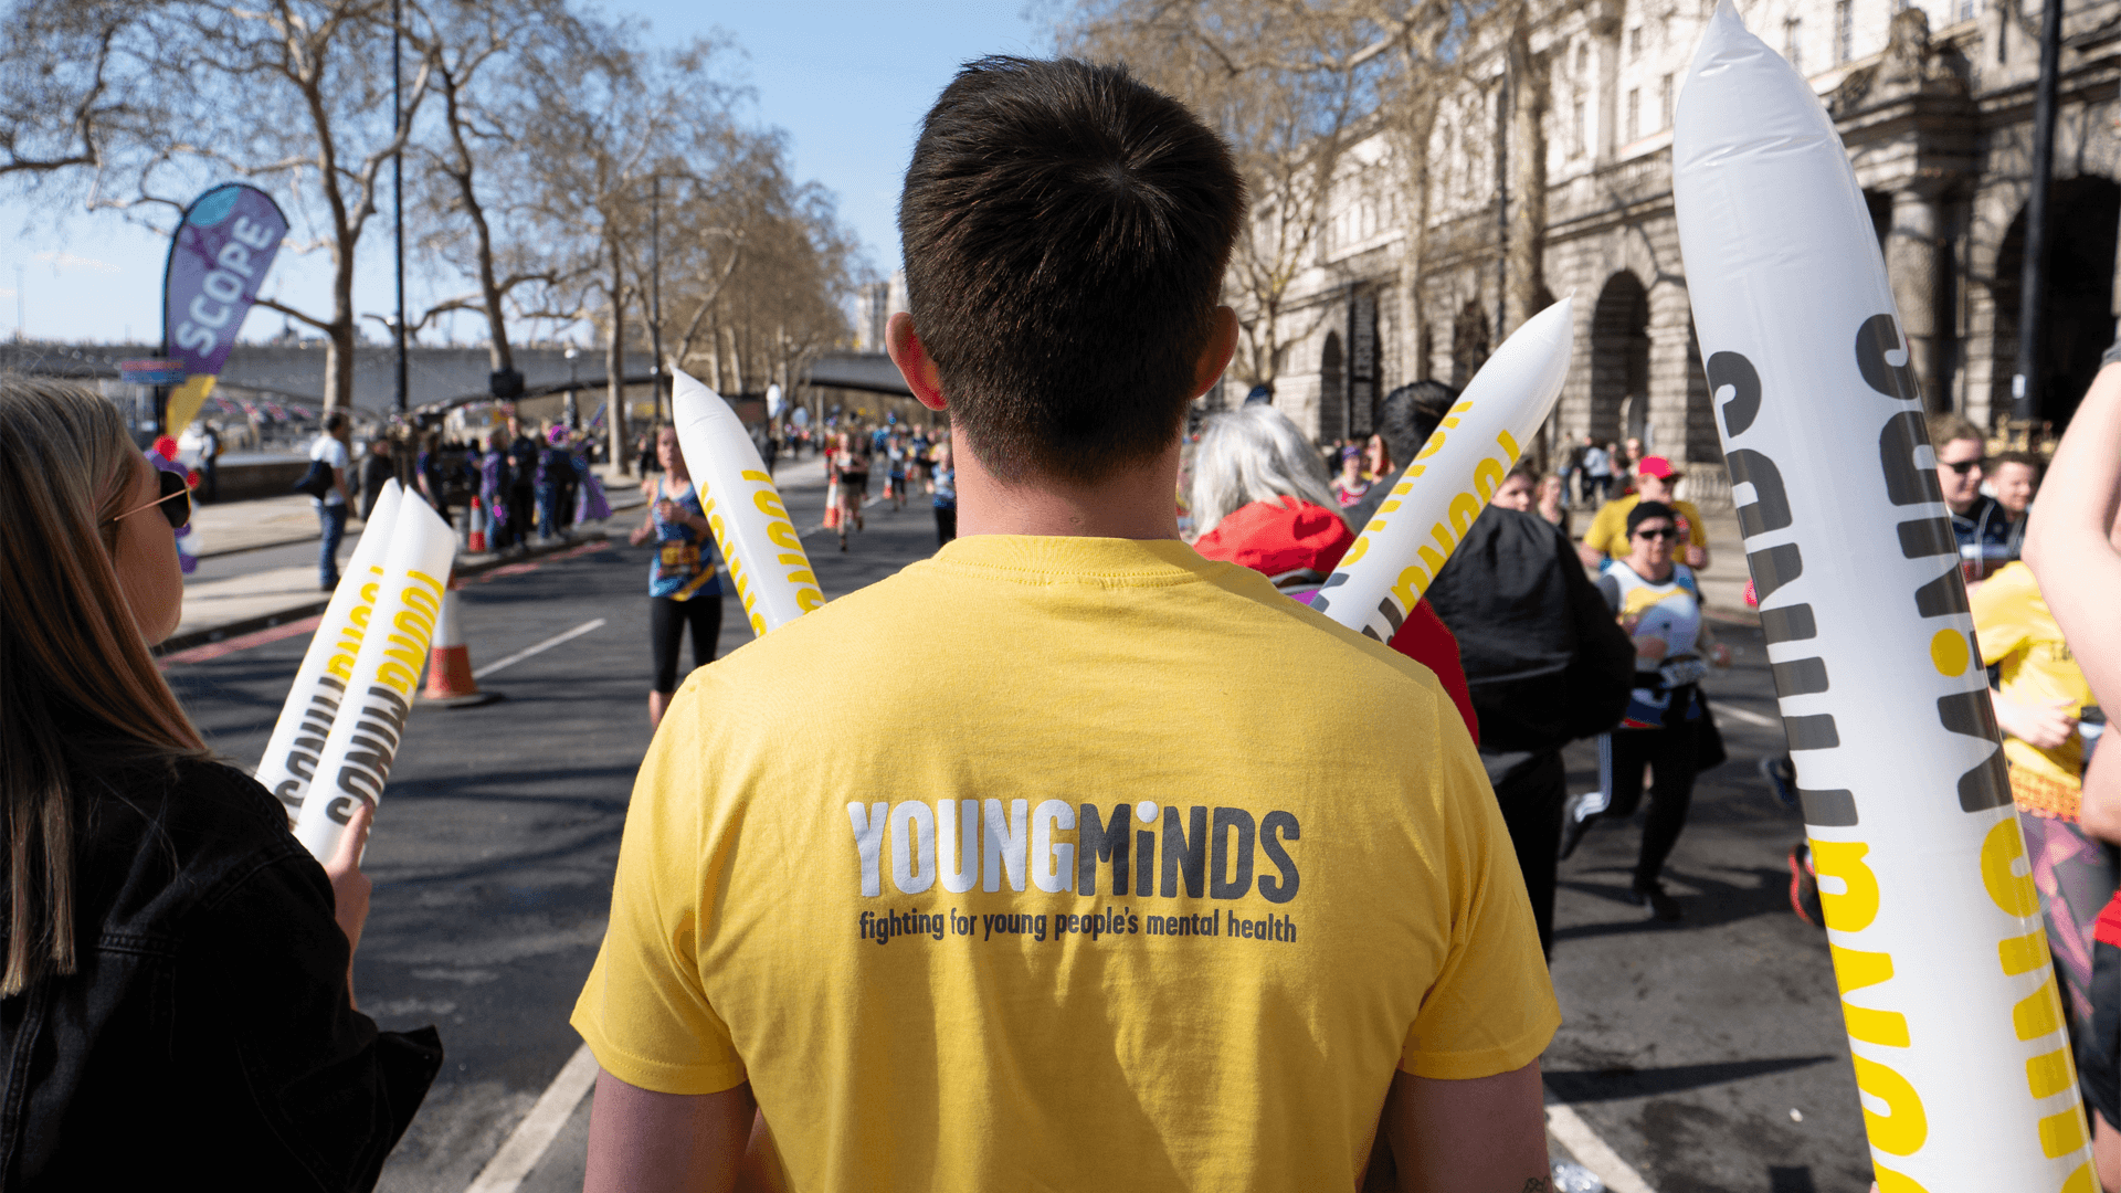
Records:
<instances>
[{"instance_id":1,"label":"runner in sunglasses, dark cap, white top and black leggings","mask_svg":"<svg viewBox=\"0 0 2121 1193\"><path fill-rule=\"evenodd\" d=\"M1695 798L1701 741L1701 677L1710 667L1731 667L1731 650L1716 641L1701 618L1695 571L1673 563L1684 543L1680 514L1663 501L1642 501L1627 512L1625 558L1597 580L1606 605L1635 643L1635 686L1627 715L1599 734L1599 788L1574 796L1561 822L1561 855L1576 851L1591 822L1625 819L1642 805L1642 773L1650 768L1650 815L1642 826L1635 862L1635 902L1652 919L1680 919L1680 902L1665 892L1665 858L1686 828Z\"/></svg>"}]
</instances>

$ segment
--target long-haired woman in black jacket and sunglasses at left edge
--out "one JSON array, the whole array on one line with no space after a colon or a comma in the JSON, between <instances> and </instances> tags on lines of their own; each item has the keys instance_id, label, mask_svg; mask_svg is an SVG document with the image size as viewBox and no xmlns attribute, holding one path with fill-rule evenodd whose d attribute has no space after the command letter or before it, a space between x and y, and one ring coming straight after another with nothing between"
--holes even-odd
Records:
<instances>
[{"instance_id":1,"label":"long-haired woman in black jacket and sunglasses at left edge","mask_svg":"<svg viewBox=\"0 0 2121 1193\"><path fill-rule=\"evenodd\" d=\"M441 1044L354 1010L367 811L318 866L148 656L163 476L102 397L0 378L0 1187L369 1189Z\"/></svg>"}]
</instances>

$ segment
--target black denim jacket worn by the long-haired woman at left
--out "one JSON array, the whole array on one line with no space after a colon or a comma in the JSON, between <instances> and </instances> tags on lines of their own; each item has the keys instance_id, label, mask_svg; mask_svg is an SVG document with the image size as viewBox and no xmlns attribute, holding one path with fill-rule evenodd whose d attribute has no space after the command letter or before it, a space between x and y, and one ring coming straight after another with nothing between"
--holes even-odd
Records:
<instances>
[{"instance_id":1,"label":"black denim jacket worn by the long-haired woman at left","mask_svg":"<svg viewBox=\"0 0 2121 1193\"><path fill-rule=\"evenodd\" d=\"M0 1191L371 1189L441 1040L350 1006L280 800L201 762L83 802L81 968L0 1000Z\"/></svg>"}]
</instances>

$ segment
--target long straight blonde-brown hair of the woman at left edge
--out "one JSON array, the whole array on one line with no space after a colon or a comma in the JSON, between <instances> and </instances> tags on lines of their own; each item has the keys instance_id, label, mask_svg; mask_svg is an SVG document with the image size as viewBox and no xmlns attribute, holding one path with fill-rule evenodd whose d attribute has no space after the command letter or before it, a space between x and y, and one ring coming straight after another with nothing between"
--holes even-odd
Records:
<instances>
[{"instance_id":1,"label":"long straight blonde-brown hair of the woman at left edge","mask_svg":"<svg viewBox=\"0 0 2121 1193\"><path fill-rule=\"evenodd\" d=\"M74 849L91 779L208 756L140 641L112 560L110 518L138 459L100 395L0 376L0 996L74 972Z\"/></svg>"}]
</instances>

